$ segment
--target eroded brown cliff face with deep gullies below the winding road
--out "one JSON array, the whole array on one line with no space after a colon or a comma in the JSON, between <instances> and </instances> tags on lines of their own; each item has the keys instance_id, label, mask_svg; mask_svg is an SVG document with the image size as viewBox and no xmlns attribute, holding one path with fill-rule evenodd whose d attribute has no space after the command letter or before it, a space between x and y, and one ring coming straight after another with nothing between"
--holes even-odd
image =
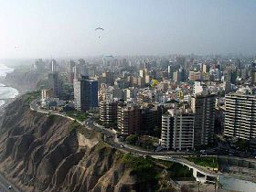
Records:
<instances>
[{"instance_id":1,"label":"eroded brown cliff face with deep gullies below the winding road","mask_svg":"<svg viewBox=\"0 0 256 192\"><path fill-rule=\"evenodd\" d=\"M26 96L11 103L0 129L0 171L24 191L153 191L99 133L31 112Z\"/></svg>"}]
</instances>

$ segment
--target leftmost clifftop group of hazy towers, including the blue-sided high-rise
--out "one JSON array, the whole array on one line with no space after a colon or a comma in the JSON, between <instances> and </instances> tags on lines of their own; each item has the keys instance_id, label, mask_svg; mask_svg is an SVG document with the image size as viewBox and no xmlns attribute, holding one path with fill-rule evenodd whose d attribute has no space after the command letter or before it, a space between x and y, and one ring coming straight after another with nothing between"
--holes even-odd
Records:
<instances>
[{"instance_id":1,"label":"leftmost clifftop group of hazy towers, including the blue-sided high-rise","mask_svg":"<svg viewBox=\"0 0 256 192\"><path fill-rule=\"evenodd\" d=\"M41 59L38 60L41 61ZM34 66L38 65L38 60ZM42 63L44 62L42 61ZM67 71L65 71L63 66L59 67L55 59L49 61L49 66L48 88L42 90L41 99L43 107L48 109L56 108L57 106L63 106L63 100L69 100L73 101L74 109L79 112L97 111L98 80L89 78L84 59L79 59L77 63L72 60L69 61ZM46 67L44 68L46 69ZM67 76L63 75L64 72L67 73ZM66 94L63 89L64 85L70 88L68 88L69 92L66 90ZM68 99L67 95L69 96Z\"/></svg>"}]
</instances>

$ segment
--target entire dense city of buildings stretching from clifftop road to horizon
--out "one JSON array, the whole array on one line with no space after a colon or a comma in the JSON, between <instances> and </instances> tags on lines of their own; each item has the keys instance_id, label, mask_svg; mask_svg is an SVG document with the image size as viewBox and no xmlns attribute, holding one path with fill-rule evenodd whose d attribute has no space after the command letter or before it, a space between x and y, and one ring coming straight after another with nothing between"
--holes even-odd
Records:
<instances>
[{"instance_id":1,"label":"entire dense city of buildings stretching from clifftop road to horizon","mask_svg":"<svg viewBox=\"0 0 256 192\"><path fill-rule=\"evenodd\" d=\"M101 123L123 135L160 130L159 144L176 150L214 144L217 133L249 141L251 147L255 143L256 64L251 59L37 59L34 69L50 70L42 92L45 105L72 101L75 110L99 112Z\"/></svg>"}]
</instances>

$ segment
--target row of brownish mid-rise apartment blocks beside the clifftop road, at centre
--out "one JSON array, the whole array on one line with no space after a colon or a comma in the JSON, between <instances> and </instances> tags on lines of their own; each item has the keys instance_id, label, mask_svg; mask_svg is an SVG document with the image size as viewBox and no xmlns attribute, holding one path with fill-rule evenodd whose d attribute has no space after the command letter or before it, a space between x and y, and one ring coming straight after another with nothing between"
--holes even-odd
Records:
<instances>
[{"instance_id":1,"label":"row of brownish mid-rise apartment blocks beside the clifftop road, at centre","mask_svg":"<svg viewBox=\"0 0 256 192\"><path fill-rule=\"evenodd\" d=\"M161 126L163 108L159 105L101 101L100 120L120 130L123 135L152 133Z\"/></svg>"}]
</instances>

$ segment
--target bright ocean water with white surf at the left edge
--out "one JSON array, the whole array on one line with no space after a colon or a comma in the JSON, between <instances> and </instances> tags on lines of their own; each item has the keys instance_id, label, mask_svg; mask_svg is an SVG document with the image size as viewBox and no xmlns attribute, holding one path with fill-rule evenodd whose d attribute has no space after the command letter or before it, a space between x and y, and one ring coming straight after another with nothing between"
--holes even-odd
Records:
<instances>
[{"instance_id":1,"label":"bright ocean water with white surf at the left edge","mask_svg":"<svg viewBox=\"0 0 256 192\"><path fill-rule=\"evenodd\" d=\"M6 67L4 64L0 64L0 77L5 77L9 72L14 69ZM18 91L11 87L6 87L4 84L0 83L0 106L5 104L6 99L16 98Z\"/></svg>"}]
</instances>

